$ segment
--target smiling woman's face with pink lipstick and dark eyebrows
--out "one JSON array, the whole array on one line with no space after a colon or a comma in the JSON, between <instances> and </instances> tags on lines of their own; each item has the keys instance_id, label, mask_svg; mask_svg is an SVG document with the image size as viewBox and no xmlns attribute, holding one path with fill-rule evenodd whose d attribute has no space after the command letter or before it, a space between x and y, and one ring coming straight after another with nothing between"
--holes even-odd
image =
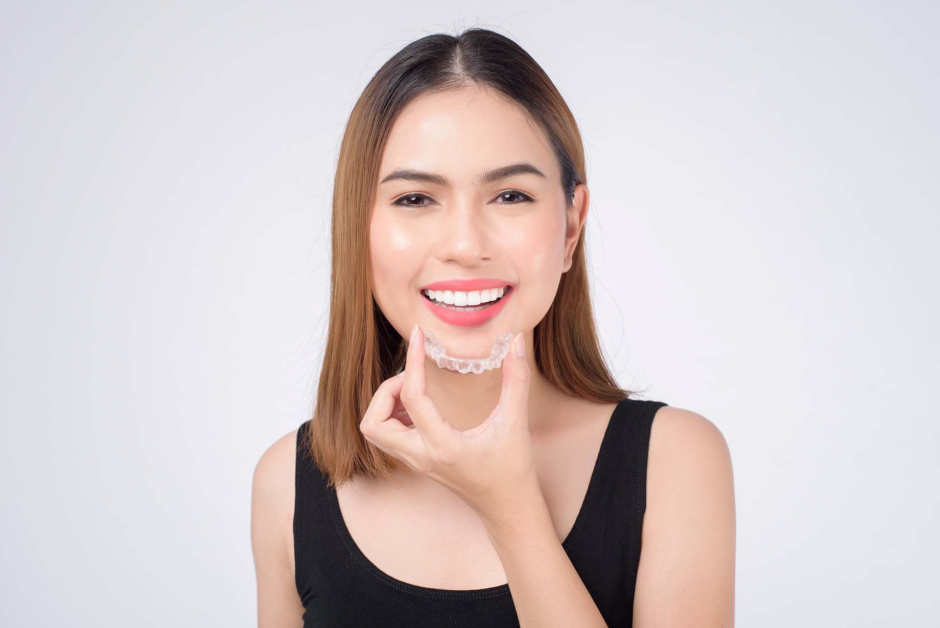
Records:
<instances>
[{"instance_id":1,"label":"smiling woman's face with pink lipstick and dark eyebrows","mask_svg":"<svg viewBox=\"0 0 940 628\"><path fill-rule=\"evenodd\" d=\"M544 176L518 172L478 186L485 173L519 164ZM404 169L437 180L384 181ZM571 267L577 202L586 205L587 191L576 191L566 210L555 155L523 114L477 87L419 99L394 125L378 181L369 222L373 294L399 334L407 340L417 322L449 355L470 358L487 356L506 332L531 338ZM485 322L442 320L421 290L479 278L512 286Z\"/></svg>"}]
</instances>

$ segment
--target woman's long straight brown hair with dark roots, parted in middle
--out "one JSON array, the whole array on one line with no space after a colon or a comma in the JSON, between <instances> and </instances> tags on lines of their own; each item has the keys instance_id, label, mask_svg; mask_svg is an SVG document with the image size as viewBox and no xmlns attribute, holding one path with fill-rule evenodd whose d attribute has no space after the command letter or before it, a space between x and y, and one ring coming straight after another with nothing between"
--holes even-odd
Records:
<instances>
[{"instance_id":1,"label":"woman's long straight brown hair with dark roots, parted in middle","mask_svg":"<svg viewBox=\"0 0 940 628\"><path fill-rule=\"evenodd\" d=\"M304 445L333 485L360 473L388 479L400 463L359 432L369 401L404 366L406 346L372 298L368 220L385 142L402 108L419 95L466 86L521 107L553 148L559 183L572 207L574 187L586 182L577 123L538 63L519 44L492 30L438 33L392 56L368 82L343 133L333 193L330 320L320 384ZM535 363L548 382L569 395L613 402L634 394L607 368L591 310L584 229L572 267L535 327Z\"/></svg>"}]
</instances>

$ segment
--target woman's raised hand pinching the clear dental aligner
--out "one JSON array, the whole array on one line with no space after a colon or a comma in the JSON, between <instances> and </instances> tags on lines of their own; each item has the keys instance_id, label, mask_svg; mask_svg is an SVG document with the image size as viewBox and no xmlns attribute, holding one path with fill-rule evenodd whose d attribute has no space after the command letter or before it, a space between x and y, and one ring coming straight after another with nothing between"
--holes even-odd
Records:
<instances>
[{"instance_id":1,"label":"woman's raised hand pinching the clear dental aligner","mask_svg":"<svg viewBox=\"0 0 940 628\"><path fill-rule=\"evenodd\" d=\"M501 367L499 402L485 421L461 432L425 394L424 332L415 324L404 372L379 386L359 423L369 443L459 495L485 522L498 521L538 486L528 432L531 376L525 354L515 351L525 352L525 338L514 340Z\"/></svg>"}]
</instances>

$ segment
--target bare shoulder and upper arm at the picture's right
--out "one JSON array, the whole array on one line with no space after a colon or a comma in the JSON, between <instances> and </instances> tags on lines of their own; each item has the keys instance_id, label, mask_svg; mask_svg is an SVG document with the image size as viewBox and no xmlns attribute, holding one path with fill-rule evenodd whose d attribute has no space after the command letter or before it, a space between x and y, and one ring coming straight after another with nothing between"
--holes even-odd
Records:
<instances>
[{"instance_id":1,"label":"bare shoulder and upper arm at the picture's right","mask_svg":"<svg viewBox=\"0 0 940 628\"><path fill-rule=\"evenodd\" d=\"M732 628L734 550L728 444L704 416L665 406L650 432L634 625Z\"/></svg>"}]
</instances>

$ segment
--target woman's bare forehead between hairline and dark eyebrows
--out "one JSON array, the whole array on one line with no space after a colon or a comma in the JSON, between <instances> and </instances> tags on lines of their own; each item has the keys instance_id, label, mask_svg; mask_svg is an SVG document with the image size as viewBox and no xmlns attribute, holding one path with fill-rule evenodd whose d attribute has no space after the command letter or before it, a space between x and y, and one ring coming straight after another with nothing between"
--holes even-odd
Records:
<instances>
[{"instance_id":1,"label":"woman's bare forehead between hairline and dark eyebrows","mask_svg":"<svg viewBox=\"0 0 940 628\"><path fill-rule=\"evenodd\" d=\"M493 166L530 162L554 172L551 149L537 125L489 90L420 97L402 110L385 145L379 179L409 167L439 172L465 183Z\"/></svg>"}]
</instances>

